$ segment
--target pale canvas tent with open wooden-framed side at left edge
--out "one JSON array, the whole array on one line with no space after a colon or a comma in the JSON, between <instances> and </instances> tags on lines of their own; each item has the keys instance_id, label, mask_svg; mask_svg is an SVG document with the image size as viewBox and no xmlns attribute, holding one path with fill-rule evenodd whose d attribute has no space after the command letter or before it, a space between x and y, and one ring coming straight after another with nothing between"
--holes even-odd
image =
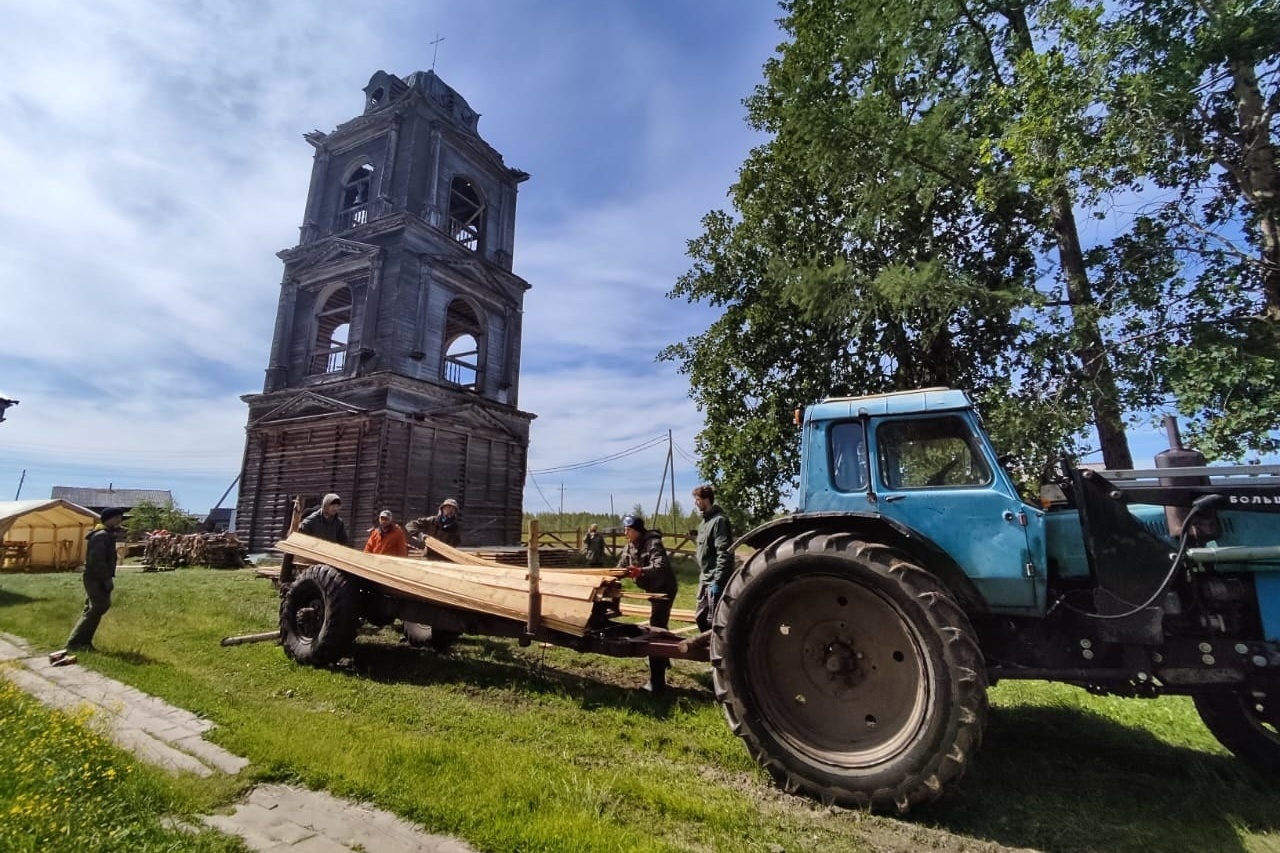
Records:
<instances>
[{"instance_id":1,"label":"pale canvas tent with open wooden-framed side at left edge","mask_svg":"<svg viewBox=\"0 0 1280 853\"><path fill-rule=\"evenodd\" d=\"M84 562L84 537L97 514L49 498L0 501L0 569L74 569Z\"/></svg>"}]
</instances>

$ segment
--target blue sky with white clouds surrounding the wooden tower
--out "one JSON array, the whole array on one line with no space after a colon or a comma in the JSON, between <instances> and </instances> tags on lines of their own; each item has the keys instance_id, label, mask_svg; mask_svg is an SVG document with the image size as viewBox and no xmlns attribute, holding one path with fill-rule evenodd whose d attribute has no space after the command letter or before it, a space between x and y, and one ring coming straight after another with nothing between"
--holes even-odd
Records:
<instances>
[{"instance_id":1,"label":"blue sky with white clouds surrounding the wooden tower","mask_svg":"<svg viewBox=\"0 0 1280 853\"><path fill-rule=\"evenodd\" d=\"M378 69L431 67L522 184L520 405L536 473L672 430L677 498L701 426L655 353L707 328L666 298L755 137L741 100L782 36L769 0L60 0L0 31L0 500L166 488L205 511L239 471L302 134L357 115ZM797 401L804 402L804 401ZM1139 464L1161 447L1134 433ZM682 452L680 452L682 451ZM666 442L536 476L525 507L652 510ZM540 491L539 488L540 487ZM234 505L234 492L228 505Z\"/></svg>"}]
</instances>

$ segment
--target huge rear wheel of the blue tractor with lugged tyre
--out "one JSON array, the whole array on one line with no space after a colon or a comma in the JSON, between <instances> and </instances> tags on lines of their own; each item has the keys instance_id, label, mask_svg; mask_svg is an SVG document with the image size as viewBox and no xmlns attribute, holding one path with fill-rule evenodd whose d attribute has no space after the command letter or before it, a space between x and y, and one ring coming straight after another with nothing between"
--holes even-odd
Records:
<instances>
[{"instance_id":1,"label":"huge rear wheel of the blue tractor with lugged tyre","mask_svg":"<svg viewBox=\"0 0 1280 853\"><path fill-rule=\"evenodd\" d=\"M733 575L712 633L730 727L787 792L906 812L982 743L987 671L946 588L901 553L804 533Z\"/></svg>"}]
</instances>

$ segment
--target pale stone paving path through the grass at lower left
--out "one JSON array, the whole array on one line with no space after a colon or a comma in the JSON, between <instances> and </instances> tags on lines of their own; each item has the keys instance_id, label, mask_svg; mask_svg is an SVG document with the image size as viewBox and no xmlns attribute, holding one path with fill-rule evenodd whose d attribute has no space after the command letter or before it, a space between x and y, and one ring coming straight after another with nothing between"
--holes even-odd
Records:
<instances>
[{"instance_id":1,"label":"pale stone paving path through the grass at lower left","mask_svg":"<svg viewBox=\"0 0 1280 853\"><path fill-rule=\"evenodd\" d=\"M52 666L19 637L0 634L0 676L51 708L91 706L116 743L172 772L238 774L248 765L204 739L210 721L83 666ZM259 785L230 815L201 821L261 853L474 853L390 812L288 785Z\"/></svg>"}]
</instances>

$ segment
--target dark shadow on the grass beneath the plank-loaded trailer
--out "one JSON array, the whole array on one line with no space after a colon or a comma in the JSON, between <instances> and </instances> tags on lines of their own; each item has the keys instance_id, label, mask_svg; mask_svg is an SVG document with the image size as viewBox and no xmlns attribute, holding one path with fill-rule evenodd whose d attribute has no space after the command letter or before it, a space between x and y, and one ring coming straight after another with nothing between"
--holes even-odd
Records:
<instances>
[{"instance_id":1,"label":"dark shadow on the grass beneath the plank-loaded trailer","mask_svg":"<svg viewBox=\"0 0 1280 853\"><path fill-rule=\"evenodd\" d=\"M669 685L666 694L654 697L639 689L639 683L630 674L622 676L600 670L582 675L557 669L521 654L509 640L466 637L460 640L460 647L440 653L407 643L357 643L355 654L339 669L385 684L461 684L474 689L500 688L564 695L572 697L588 711L598 707L630 708L659 720L671 717L677 702L710 701L700 690ZM589 657L584 654L584 660Z\"/></svg>"}]
</instances>

